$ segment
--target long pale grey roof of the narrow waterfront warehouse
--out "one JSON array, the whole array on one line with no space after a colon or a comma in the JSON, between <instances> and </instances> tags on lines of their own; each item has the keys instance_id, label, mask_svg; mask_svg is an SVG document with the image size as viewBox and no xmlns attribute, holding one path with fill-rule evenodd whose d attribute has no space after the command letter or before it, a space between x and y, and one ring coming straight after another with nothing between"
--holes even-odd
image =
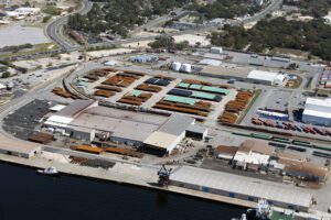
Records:
<instances>
[{"instance_id":1,"label":"long pale grey roof of the narrow waterfront warehouse","mask_svg":"<svg viewBox=\"0 0 331 220\"><path fill-rule=\"evenodd\" d=\"M170 176L170 179L306 208L310 206L312 199L310 194L296 190L282 184L190 166L177 169Z\"/></svg>"}]
</instances>

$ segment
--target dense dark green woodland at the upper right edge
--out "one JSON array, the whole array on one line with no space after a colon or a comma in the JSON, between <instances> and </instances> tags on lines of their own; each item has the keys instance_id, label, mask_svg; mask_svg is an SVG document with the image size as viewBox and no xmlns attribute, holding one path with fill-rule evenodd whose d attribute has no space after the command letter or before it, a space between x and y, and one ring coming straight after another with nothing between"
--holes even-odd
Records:
<instances>
[{"instance_id":1,"label":"dense dark green woodland at the upper right edge","mask_svg":"<svg viewBox=\"0 0 331 220\"><path fill-rule=\"evenodd\" d=\"M217 46L252 52L264 52L275 47L310 52L322 59L331 61L331 28L323 20L287 21L285 18L261 20L254 28L225 25L223 32L210 35Z\"/></svg>"}]
</instances>

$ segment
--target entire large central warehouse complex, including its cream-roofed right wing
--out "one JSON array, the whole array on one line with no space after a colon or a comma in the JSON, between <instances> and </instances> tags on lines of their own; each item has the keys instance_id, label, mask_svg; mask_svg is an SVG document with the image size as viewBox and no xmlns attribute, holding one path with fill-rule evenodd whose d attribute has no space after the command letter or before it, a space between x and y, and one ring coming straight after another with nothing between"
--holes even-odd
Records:
<instances>
[{"instance_id":1,"label":"entire large central warehouse complex, including its cream-roofed right wing","mask_svg":"<svg viewBox=\"0 0 331 220\"><path fill-rule=\"evenodd\" d=\"M194 121L183 114L167 118L100 107L92 100L76 100L52 113L44 125L62 129L78 140L93 141L95 136L106 134L114 143L143 146L149 152L164 154L171 153L186 135L204 139L207 130Z\"/></svg>"}]
</instances>

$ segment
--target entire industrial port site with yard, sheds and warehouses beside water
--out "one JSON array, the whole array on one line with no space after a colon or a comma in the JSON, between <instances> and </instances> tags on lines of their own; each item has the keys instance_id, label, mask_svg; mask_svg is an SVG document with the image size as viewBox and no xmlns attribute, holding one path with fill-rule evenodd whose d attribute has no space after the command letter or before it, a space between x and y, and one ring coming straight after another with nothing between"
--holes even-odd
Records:
<instances>
[{"instance_id":1,"label":"entire industrial port site with yard, sheds and warehouses beside water","mask_svg":"<svg viewBox=\"0 0 331 220\"><path fill-rule=\"evenodd\" d=\"M300 211L325 198L329 100L305 95L308 70L246 67L231 63L233 54L159 53L113 56L111 68L106 57L87 61L31 106L11 111L3 129L44 152L65 154L68 164L102 172L167 164L174 168L169 188L192 194L243 202L263 197ZM327 85L329 69L322 69ZM298 88L289 88L293 76L302 79ZM25 157L39 154L32 146Z\"/></svg>"}]
</instances>

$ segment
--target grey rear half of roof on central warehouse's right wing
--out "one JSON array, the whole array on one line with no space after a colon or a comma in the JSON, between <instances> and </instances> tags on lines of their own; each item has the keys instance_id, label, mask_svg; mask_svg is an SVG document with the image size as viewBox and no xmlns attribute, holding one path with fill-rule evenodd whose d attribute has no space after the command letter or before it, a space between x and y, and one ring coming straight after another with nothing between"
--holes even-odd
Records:
<instances>
[{"instance_id":1,"label":"grey rear half of roof on central warehouse's right wing","mask_svg":"<svg viewBox=\"0 0 331 220\"><path fill-rule=\"evenodd\" d=\"M194 123L194 121L195 119L191 117L174 113L160 127L158 131L173 135L181 135L191 124Z\"/></svg>"}]
</instances>

